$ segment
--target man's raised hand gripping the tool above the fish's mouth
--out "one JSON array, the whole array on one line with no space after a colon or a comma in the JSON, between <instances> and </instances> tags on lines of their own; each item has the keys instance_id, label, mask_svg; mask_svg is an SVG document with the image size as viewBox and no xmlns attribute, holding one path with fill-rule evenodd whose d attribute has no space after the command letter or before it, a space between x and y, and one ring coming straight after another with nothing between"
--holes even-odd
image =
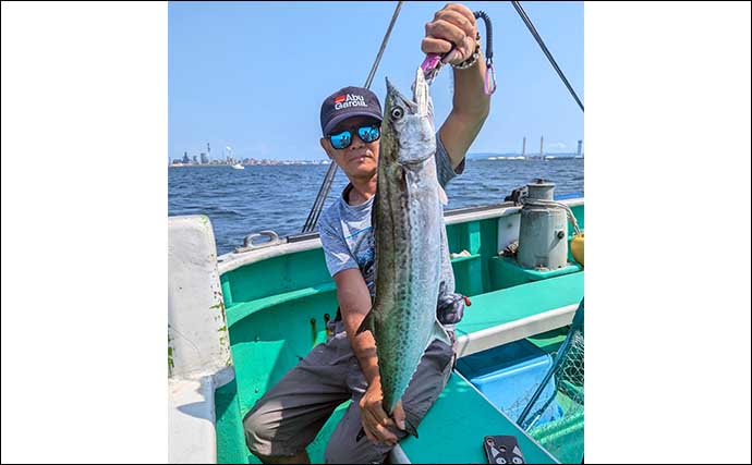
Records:
<instances>
[{"instance_id":1,"label":"man's raised hand gripping the tool above the fish's mouth","mask_svg":"<svg viewBox=\"0 0 752 465\"><path fill-rule=\"evenodd\" d=\"M421 50L424 53L444 54L454 45L454 50L444 61L458 64L475 51L476 34L473 12L463 4L450 3L439 10L433 21L426 23L426 36L421 42Z\"/></svg>"}]
</instances>

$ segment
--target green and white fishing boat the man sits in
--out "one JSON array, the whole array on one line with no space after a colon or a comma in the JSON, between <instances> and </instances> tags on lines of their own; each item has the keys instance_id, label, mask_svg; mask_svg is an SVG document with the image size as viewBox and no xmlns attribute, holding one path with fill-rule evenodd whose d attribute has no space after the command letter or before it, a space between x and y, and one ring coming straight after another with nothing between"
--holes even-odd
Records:
<instances>
[{"instance_id":1,"label":"green and white fishing boat the man sits in","mask_svg":"<svg viewBox=\"0 0 752 465\"><path fill-rule=\"evenodd\" d=\"M582 196L558 203L584 227ZM527 463L582 461L582 331L579 375L561 372L571 368L575 311L584 311L584 268L571 230L563 267L525 268L508 256L523 208L505 201L445 213L457 291L472 305L457 327L447 387L420 438L402 440L391 463L487 463L484 438L500 435L517 438ZM318 233L263 231L217 257L207 217L170 217L168 305L169 462L259 463L245 445L244 415L326 340L337 311ZM307 448L313 463L324 463L348 404Z\"/></svg>"}]
</instances>

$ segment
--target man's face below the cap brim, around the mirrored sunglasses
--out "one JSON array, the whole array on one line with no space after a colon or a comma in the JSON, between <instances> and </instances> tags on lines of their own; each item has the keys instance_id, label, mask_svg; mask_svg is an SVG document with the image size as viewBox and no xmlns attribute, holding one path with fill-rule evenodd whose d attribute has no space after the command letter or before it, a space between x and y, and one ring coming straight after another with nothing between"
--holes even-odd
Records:
<instances>
[{"instance_id":1,"label":"man's face below the cap brim, around the mirrored sunglasses","mask_svg":"<svg viewBox=\"0 0 752 465\"><path fill-rule=\"evenodd\" d=\"M328 136L322 137L322 147L349 179L369 179L376 174L379 140L365 143L357 135L357 129L367 124L379 125L379 122L368 117L353 117L339 123L331 134L345 130L352 133L350 146L342 149L332 147Z\"/></svg>"}]
</instances>

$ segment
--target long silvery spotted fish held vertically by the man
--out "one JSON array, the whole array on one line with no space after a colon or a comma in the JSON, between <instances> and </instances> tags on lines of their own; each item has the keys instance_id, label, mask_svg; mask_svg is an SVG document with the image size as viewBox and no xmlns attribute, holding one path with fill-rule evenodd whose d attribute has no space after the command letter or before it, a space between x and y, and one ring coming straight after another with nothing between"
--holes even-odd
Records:
<instances>
[{"instance_id":1,"label":"long silvery spotted fish held vertically by the man","mask_svg":"<svg viewBox=\"0 0 752 465\"><path fill-rule=\"evenodd\" d=\"M451 345L436 318L446 193L436 174L436 133L428 83L417 69L413 98L387 78L372 209L375 298L357 333L376 341L383 406L390 416L427 346ZM405 430L417 437L409 420Z\"/></svg>"}]
</instances>

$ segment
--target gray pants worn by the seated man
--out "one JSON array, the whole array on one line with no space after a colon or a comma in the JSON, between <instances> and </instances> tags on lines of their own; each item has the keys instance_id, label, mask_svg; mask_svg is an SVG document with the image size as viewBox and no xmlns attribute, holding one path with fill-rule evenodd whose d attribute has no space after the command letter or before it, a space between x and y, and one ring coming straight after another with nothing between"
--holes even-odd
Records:
<instances>
[{"instance_id":1,"label":"gray pants worn by the seated man","mask_svg":"<svg viewBox=\"0 0 752 465\"><path fill-rule=\"evenodd\" d=\"M366 437L355 441L362 427L359 402L367 383L343 323L330 325L333 335L314 347L243 419L245 442L255 455L292 456L303 452L335 408L350 399L353 402L327 444L326 463L381 463L391 450ZM424 353L402 396L405 416L416 428L447 384L453 355L453 348L440 341L434 341ZM407 436L399 429L392 432L399 439Z\"/></svg>"}]
</instances>

